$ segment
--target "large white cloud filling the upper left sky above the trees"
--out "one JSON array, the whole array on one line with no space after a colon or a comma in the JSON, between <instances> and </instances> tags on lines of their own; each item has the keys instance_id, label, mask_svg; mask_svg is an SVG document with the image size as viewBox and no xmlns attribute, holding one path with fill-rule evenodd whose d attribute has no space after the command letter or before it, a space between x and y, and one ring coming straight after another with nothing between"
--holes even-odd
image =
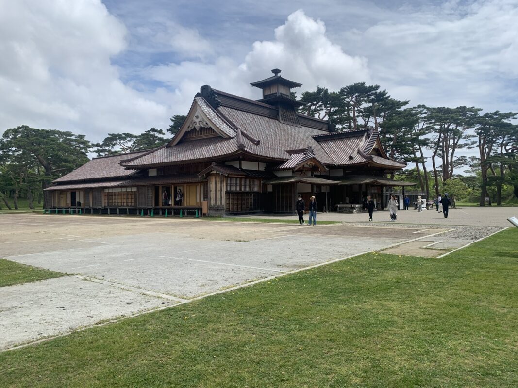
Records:
<instances>
[{"instance_id":1,"label":"large white cloud filling the upper left sky above the trees","mask_svg":"<svg viewBox=\"0 0 518 388\"><path fill-rule=\"evenodd\" d=\"M126 28L99 0L0 0L0 121L73 130L100 140L141 132L167 109L124 85L111 57Z\"/></svg>"}]
</instances>

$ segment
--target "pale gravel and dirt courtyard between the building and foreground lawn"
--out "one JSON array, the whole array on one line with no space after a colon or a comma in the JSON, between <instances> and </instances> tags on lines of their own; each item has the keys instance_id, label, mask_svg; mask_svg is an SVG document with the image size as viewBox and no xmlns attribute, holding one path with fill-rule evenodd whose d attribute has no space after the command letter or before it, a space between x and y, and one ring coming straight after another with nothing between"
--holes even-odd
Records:
<instances>
[{"instance_id":1,"label":"pale gravel and dirt courtyard between the building and foreground lawn","mask_svg":"<svg viewBox=\"0 0 518 388\"><path fill-rule=\"evenodd\" d=\"M363 252L438 256L474 240L442 238L450 225L313 227L293 219L0 216L0 257L73 274L0 288L0 349Z\"/></svg>"}]
</instances>

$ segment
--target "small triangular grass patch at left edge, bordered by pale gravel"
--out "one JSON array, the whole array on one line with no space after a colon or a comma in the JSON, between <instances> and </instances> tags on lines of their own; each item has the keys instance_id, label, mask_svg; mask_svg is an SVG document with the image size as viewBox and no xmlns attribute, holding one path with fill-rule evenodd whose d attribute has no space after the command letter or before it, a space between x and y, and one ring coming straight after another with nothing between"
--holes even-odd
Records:
<instances>
[{"instance_id":1,"label":"small triangular grass patch at left edge, bordered by pale gravel","mask_svg":"<svg viewBox=\"0 0 518 388\"><path fill-rule=\"evenodd\" d=\"M68 274L44 270L43 268L0 259L0 287L51 279L54 277L61 277L66 275ZM0 386L2 385L0 384Z\"/></svg>"}]
</instances>

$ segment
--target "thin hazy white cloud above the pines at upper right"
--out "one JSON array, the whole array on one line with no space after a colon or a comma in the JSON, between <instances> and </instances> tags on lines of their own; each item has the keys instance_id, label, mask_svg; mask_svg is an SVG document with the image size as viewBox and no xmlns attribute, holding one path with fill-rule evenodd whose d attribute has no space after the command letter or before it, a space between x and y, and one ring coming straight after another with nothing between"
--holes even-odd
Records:
<instances>
[{"instance_id":1,"label":"thin hazy white cloud above the pines at upper right","mask_svg":"<svg viewBox=\"0 0 518 388\"><path fill-rule=\"evenodd\" d=\"M511 0L451 1L349 32L370 59L372 79L394 93L420 91L412 103L516 109L518 7ZM356 47L356 49L358 49ZM404 98L404 96L397 96ZM510 102L511 101L511 102Z\"/></svg>"}]
</instances>

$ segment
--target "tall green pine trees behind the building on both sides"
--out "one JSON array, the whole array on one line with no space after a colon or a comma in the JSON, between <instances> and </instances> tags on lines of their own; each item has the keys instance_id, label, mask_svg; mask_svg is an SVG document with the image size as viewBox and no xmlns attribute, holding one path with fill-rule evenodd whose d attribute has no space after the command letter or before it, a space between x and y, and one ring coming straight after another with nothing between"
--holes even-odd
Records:
<instances>
[{"instance_id":1,"label":"tall green pine trees behind the building on both sides","mask_svg":"<svg viewBox=\"0 0 518 388\"><path fill-rule=\"evenodd\" d=\"M379 85L364 82L338 92L318 86L304 92L300 101L305 102L300 113L329 120L334 131L379 131L389 157L413 166L393 177L415 180L427 198L444 191L457 199L476 194L480 205L486 197L496 204L513 195L518 198L518 125L513 124L518 113L482 114L482 109L466 106L407 107L409 101L393 99ZM151 128L140 135L108 133L100 143L57 129L7 129L0 139L0 208L11 208L11 203L18 208L19 198L26 198L30 208L35 202L41 205L42 189L87 162L88 153L104 156L159 147L185 118L175 115L169 128ZM459 155L469 148L476 148L478 156ZM459 168L465 168L466 175L456 174Z\"/></svg>"}]
</instances>

